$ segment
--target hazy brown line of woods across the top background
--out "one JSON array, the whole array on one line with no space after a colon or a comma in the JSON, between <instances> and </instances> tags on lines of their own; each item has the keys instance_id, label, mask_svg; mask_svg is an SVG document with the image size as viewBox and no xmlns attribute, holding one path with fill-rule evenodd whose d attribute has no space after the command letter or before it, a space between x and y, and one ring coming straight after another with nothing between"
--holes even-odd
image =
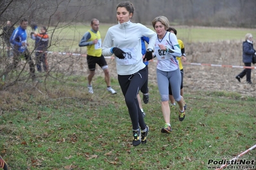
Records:
<instances>
[{"instance_id":1,"label":"hazy brown line of woods across the top background","mask_svg":"<svg viewBox=\"0 0 256 170\"><path fill-rule=\"evenodd\" d=\"M116 6L121 0L2 0L0 22L29 22L57 26L61 23L116 22ZM133 22L151 24L158 15L173 25L214 27L256 27L255 0L130 0L135 6Z\"/></svg>"}]
</instances>

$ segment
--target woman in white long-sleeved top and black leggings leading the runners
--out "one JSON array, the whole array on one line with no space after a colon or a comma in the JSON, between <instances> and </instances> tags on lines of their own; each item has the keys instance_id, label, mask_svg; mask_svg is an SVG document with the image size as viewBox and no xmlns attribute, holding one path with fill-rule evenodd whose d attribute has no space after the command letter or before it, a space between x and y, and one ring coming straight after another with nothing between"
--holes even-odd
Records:
<instances>
[{"instance_id":1,"label":"woman in white long-sleeved top and black leggings leading the runners","mask_svg":"<svg viewBox=\"0 0 256 170\"><path fill-rule=\"evenodd\" d=\"M103 42L103 55L115 54L119 85L132 121L133 146L146 143L149 128L139 108L137 94L148 94L148 70L142 61L141 37L149 38L148 50L154 48L157 35L148 27L133 23L133 4L129 1L117 4L117 25L108 29ZM147 54L146 54L147 55Z\"/></svg>"}]
</instances>

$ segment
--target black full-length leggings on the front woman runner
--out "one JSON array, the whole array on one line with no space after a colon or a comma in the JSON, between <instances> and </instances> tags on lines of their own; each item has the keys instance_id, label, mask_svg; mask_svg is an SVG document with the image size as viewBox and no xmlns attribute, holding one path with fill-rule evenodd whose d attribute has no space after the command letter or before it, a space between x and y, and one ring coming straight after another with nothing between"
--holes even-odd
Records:
<instances>
[{"instance_id":1,"label":"black full-length leggings on the front woman runner","mask_svg":"<svg viewBox=\"0 0 256 170\"><path fill-rule=\"evenodd\" d=\"M146 124L139 107L137 94L139 93L139 90L141 90L142 93L148 93L148 84L146 84L147 80L148 70L146 67L132 75L118 75L118 81L132 120L133 130L137 130L139 127L141 127L142 130L146 128Z\"/></svg>"}]
</instances>

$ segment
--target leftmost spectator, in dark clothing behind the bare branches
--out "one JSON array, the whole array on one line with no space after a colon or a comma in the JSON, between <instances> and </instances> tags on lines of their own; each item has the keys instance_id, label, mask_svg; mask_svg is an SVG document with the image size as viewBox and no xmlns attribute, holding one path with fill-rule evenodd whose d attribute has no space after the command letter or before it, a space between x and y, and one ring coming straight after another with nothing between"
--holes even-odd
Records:
<instances>
[{"instance_id":1,"label":"leftmost spectator, in dark clothing behind the bare branches","mask_svg":"<svg viewBox=\"0 0 256 170\"><path fill-rule=\"evenodd\" d=\"M3 28L3 37L4 42L6 43L6 50L7 50L7 56L10 58L12 54L11 52L11 44L10 44L10 37L12 36L13 31L15 30L15 27L12 26L12 22L10 20L7 20L6 26Z\"/></svg>"}]
</instances>

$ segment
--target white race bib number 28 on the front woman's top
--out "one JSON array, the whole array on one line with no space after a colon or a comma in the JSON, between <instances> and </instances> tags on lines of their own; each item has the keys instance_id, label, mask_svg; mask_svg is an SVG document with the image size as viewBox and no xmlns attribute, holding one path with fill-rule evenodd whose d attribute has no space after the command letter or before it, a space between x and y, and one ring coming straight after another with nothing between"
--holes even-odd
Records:
<instances>
[{"instance_id":1,"label":"white race bib number 28 on the front woman's top","mask_svg":"<svg viewBox=\"0 0 256 170\"><path fill-rule=\"evenodd\" d=\"M121 49L125 52L124 59L116 58L117 65L134 65L137 63L137 56L135 53L134 48L133 49Z\"/></svg>"}]
</instances>

